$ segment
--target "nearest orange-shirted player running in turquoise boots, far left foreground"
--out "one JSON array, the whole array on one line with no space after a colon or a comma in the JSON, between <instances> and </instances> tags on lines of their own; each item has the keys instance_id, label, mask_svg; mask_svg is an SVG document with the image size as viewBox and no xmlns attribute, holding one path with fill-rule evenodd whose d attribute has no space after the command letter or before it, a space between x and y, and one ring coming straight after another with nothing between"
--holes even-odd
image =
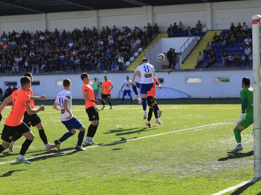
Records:
<instances>
[{"instance_id":1,"label":"nearest orange-shirted player running in turquoise boots, far left foreground","mask_svg":"<svg viewBox=\"0 0 261 195\"><path fill-rule=\"evenodd\" d=\"M31 164L25 160L25 152L28 150L30 144L33 142L34 135L30 128L22 121L25 110L29 115L35 114L39 111L45 110L45 106L41 105L38 109L32 109L30 105L30 96L26 93L31 87L31 79L29 77L22 77L20 79L21 89L14 91L8 96L0 105L0 113L6 105L13 101L10 114L5 120L2 132L2 144L0 145L0 153L6 150L16 133L25 136L26 140L22 144L21 151L16 159L18 163Z\"/></svg>"}]
</instances>

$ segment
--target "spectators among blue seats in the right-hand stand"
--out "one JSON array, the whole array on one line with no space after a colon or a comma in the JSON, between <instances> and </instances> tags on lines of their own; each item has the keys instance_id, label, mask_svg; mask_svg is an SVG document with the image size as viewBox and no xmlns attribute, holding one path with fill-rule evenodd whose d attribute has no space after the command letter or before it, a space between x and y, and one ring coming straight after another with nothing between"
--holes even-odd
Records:
<instances>
[{"instance_id":1,"label":"spectators among blue seats in the right-hand stand","mask_svg":"<svg viewBox=\"0 0 261 195\"><path fill-rule=\"evenodd\" d=\"M238 23L235 26L231 23L230 29L220 32L219 35L214 33L211 44L208 42L203 54L197 56L196 68L204 63L204 59L209 59L206 68L218 62L222 67L251 67L253 63L252 33L246 23ZM220 59L218 59L220 58Z\"/></svg>"}]
</instances>

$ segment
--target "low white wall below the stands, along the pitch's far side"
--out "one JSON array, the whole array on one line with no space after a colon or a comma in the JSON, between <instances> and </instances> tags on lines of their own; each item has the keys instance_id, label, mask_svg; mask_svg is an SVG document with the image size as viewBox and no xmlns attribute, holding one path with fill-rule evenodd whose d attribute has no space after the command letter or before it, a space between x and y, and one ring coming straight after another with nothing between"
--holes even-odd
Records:
<instances>
[{"instance_id":1,"label":"low white wall below the stands, along the pitch's far side","mask_svg":"<svg viewBox=\"0 0 261 195\"><path fill-rule=\"evenodd\" d=\"M122 94L120 89L123 85L123 81L126 76L129 75L132 78L131 73L109 73L108 79L114 85L111 91L112 98L121 98ZM103 81L104 74L90 74L90 79L95 77L99 82ZM190 98L225 98L225 97L240 97L241 79L243 77L253 78L252 70L235 70L235 71L179 71L179 72L156 72L156 77L164 79L164 83L161 83L164 88L158 97L160 98L173 98L181 97L182 94L188 95ZM20 86L20 76L1 76L0 88L3 92L6 90L5 82L17 82L18 88ZM57 86L57 81L63 81L63 79L69 78L72 81L72 97L74 99L82 98L82 81L80 74L71 75L35 75L33 80L40 81L40 86L32 86L35 96L45 94L48 99L55 99L56 95L63 90L62 86ZM215 82L215 78L229 78L229 82ZM198 80L201 82L188 83L187 79ZM135 79L136 82L140 82L140 78ZM251 85L252 86L252 85ZM174 91L181 92L173 96ZM185 96L182 96L185 97ZM100 98L100 94L98 94Z\"/></svg>"}]
</instances>

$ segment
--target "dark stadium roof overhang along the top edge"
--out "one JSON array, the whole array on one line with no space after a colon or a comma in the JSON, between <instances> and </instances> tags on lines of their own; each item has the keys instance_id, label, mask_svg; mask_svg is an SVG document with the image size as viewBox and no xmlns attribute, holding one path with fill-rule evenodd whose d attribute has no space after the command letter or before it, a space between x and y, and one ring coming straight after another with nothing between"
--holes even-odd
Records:
<instances>
[{"instance_id":1,"label":"dark stadium roof overhang along the top edge","mask_svg":"<svg viewBox=\"0 0 261 195\"><path fill-rule=\"evenodd\" d=\"M236 0L221 0L236 1ZM104 10L141 6L168 6L220 0L0 0L0 16Z\"/></svg>"}]
</instances>

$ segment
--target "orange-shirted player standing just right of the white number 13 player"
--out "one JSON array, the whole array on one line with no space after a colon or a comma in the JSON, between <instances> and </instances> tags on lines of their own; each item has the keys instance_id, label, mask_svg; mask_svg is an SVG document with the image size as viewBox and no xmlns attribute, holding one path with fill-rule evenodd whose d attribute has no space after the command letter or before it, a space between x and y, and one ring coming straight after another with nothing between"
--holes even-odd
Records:
<instances>
[{"instance_id":1,"label":"orange-shirted player standing just right of the white number 13 player","mask_svg":"<svg viewBox=\"0 0 261 195\"><path fill-rule=\"evenodd\" d=\"M92 121L88 128L86 140L84 143L92 145L97 144L93 141L93 137L97 131L99 125L99 113L96 108L96 104L99 104L99 101L95 100L92 87L89 85L90 78L87 73L81 74L81 79L83 81L82 93L83 99L85 100L85 110L88 114L89 121Z\"/></svg>"}]
</instances>

